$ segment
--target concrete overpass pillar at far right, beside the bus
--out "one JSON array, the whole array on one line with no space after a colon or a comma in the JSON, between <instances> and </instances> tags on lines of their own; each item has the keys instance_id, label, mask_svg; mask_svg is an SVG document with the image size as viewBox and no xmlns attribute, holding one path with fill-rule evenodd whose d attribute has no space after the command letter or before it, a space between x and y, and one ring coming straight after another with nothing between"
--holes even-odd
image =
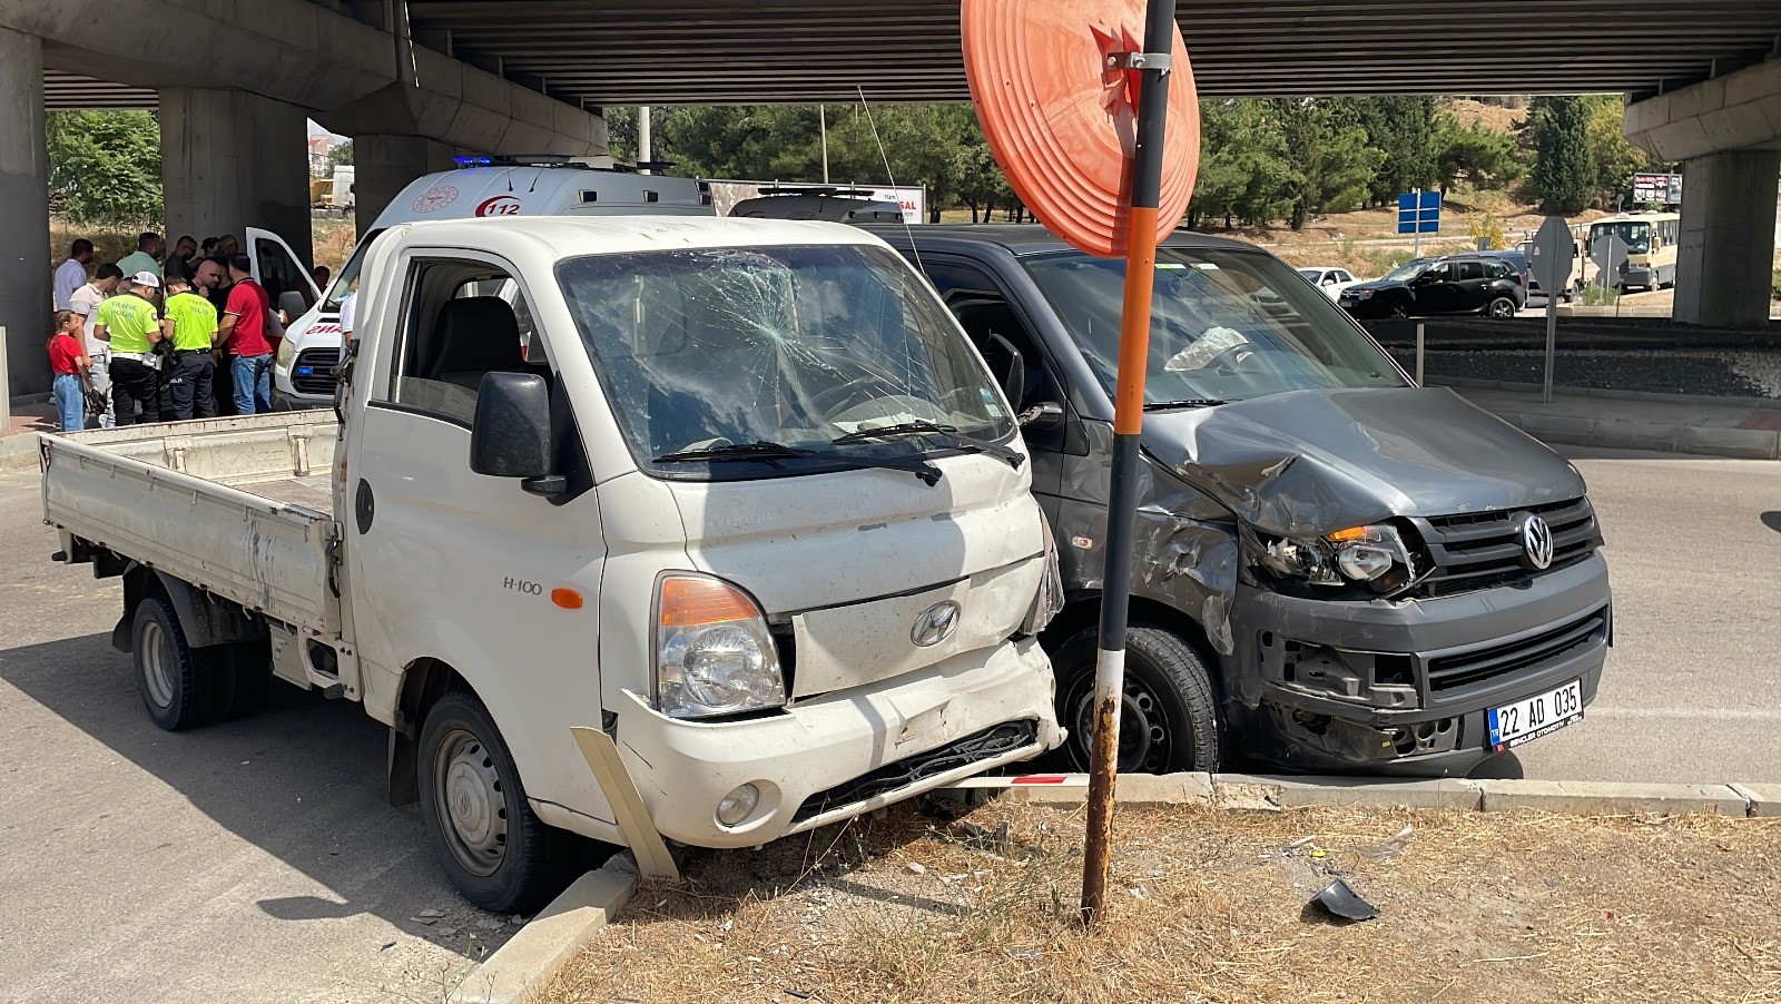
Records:
<instances>
[{"instance_id":1,"label":"concrete overpass pillar at far right, beside the bus","mask_svg":"<svg viewBox=\"0 0 1781 1004\"><path fill-rule=\"evenodd\" d=\"M1733 150L1683 164L1672 319L1765 328L1776 253L1781 150Z\"/></svg>"}]
</instances>

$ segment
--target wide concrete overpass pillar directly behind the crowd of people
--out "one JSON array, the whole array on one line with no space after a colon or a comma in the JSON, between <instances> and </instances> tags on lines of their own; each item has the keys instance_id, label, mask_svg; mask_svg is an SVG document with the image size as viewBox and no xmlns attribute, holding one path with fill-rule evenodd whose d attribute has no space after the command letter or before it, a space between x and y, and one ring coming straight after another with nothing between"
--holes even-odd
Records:
<instances>
[{"instance_id":1,"label":"wide concrete overpass pillar directly behind the crowd of people","mask_svg":"<svg viewBox=\"0 0 1781 1004\"><path fill-rule=\"evenodd\" d=\"M160 91L160 182L167 242L258 226L310 263L305 112L248 91Z\"/></svg>"}]
</instances>

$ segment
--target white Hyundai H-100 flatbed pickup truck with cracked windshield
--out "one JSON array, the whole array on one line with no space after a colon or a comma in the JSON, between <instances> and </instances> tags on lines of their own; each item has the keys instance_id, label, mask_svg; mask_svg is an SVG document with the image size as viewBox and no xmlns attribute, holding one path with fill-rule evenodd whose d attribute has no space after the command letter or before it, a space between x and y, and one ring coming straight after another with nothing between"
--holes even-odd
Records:
<instances>
[{"instance_id":1,"label":"white Hyundai H-100 flatbed pickup truck with cracked windshield","mask_svg":"<svg viewBox=\"0 0 1781 1004\"><path fill-rule=\"evenodd\" d=\"M362 290L340 417L43 438L162 728L271 676L362 701L502 911L577 863L559 830L755 846L1061 741L1015 417L876 237L399 224Z\"/></svg>"}]
</instances>

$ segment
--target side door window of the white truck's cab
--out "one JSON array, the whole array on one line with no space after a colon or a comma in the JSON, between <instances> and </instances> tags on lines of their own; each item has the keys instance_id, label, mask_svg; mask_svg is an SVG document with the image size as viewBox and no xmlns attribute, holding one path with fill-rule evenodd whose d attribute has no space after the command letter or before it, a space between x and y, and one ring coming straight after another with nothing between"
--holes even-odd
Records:
<instances>
[{"instance_id":1,"label":"side door window of the white truck's cab","mask_svg":"<svg viewBox=\"0 0 1781 1004\"><path fill-rule=\"evenodd\" d=\"M540 372L527 363L513 304L499 296L511 279L486 262L413 262L390 374L392 404L468 429L486 374ZM549 377L547 368L543 374Z\"/></svg>"}]
</instances>

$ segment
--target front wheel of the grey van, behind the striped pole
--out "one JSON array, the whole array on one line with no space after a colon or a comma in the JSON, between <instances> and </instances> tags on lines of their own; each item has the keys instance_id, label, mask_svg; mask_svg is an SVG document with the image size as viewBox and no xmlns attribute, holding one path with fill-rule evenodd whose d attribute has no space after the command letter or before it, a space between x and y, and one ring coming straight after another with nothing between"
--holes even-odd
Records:
<instances>
[{"instance_id":1,"label":"front wheel of the grey van, behind the striped pole","mask_svg":"<svg viewBox=\"0 0 1781 1004\"><path fill-rule=\"evenodd\" d=\"M1088 769L1094 725L1097 628L1065 641L1053 655L1058 675L1058 723L1070 730L1065 757ZM1218 771L1224 721L1206 662L1174 632L1134 625L1126 636L1126 705L1120 716L1118 769L1170 774Z\"/></svg>"}]
</instances>

